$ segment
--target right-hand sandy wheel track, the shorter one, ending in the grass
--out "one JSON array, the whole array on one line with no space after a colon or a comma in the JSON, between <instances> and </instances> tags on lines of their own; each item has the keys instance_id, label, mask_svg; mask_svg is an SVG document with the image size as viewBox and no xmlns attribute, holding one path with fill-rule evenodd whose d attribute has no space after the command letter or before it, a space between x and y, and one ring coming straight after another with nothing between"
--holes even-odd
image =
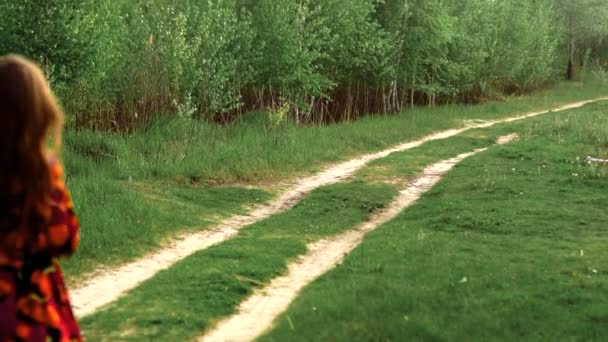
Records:
<instances>
[{"instance_id":1,"label":"right-hand sandy wheel track, the shorter one, ending in the grass","mask_svg":"<svg viewBox=\"0 0 608 342\"><path fill-rule=\"evenodd\" d=\"M513 141L517 135L498 139L498 144ZM357 247L370 231L394 219L430 190L454 165L465 158L485 151L478 149L427 167L422 174L403 189L396 200L370 221L353 230L308 246L308 252L288 267L287 274L272 280L239 306L238 313L221 321L215 329L200 339L203 342L252 341L272 326L275 318L287 309L298 293L310 282L336 267Z\"/></svg>"}]
</instances>

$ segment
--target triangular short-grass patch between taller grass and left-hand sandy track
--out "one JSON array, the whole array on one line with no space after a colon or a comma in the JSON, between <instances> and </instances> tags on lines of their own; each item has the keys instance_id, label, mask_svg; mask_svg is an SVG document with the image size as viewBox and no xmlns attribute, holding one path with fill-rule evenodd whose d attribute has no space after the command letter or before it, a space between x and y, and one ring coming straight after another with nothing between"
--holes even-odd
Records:
<instances>
[{"instance_id":1,"label":"triangular short-grass patch between taller grass and left-hand sandy track","mask_svg":"<svg viewBox=\"0 0 608 342\"><path fill-rule=\"evenodd\" d=\"M135 184L79 179L71 186L81 219L81 243L64 268L70 281L99 264L119 264L158 248L168 235L203 230L270 194L235 187Z\"/></svg>"}]
</instances>

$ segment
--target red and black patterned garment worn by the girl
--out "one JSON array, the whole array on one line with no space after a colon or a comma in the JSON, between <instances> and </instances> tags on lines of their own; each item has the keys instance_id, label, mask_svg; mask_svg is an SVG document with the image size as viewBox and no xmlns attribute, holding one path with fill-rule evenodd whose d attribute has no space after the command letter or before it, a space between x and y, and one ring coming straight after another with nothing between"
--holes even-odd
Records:
<instances>
[{"instance_id":1,"label":"red and black patterned garment worn by the girl","mask_svg":"<svg viewBox=\"0 0 608 342\"><path fill-rule=\"evenodd\" d=\"M0 342L47 341L49 338L61 342L81 341L58 263L59 258L70 256L76 250L79 224L63 182L61 166L52 163L51 173L52 204L42 215L50 219L42 223L45 228L37 239L26 241L22 231L1 237ZM5 216L0 224L10 222L6 213L12 211L13 216L19 216L14 209L18 208L17 204L0 205L4 206L0 208L0 215ZM6 206L10 208L8 211Z\"/></svg>"}]
</instances>

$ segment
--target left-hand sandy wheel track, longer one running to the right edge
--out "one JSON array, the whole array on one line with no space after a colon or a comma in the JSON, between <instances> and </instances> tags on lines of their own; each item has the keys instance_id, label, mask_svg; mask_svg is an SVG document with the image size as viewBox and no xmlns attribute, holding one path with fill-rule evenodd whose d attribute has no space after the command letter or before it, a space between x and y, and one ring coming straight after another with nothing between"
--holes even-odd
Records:
<instances>
[{"instance_id":1,"label":"left-hand sandy wheel track, longer one running to the right edge","mask_svg":"<svg viewBox=\"0 0 608 342\"><path fill-rule=\"evenodd\" d=\"M359 158L331 166L316 175L299 179L293 187L288 189L278 199L270 204L254 207L247 215L237 215L204 232L182 236L176 239L170 246L116 269L97 272L71 291L71 300L75 313L78 317L83 317L95 312L100 307L113 302L124 293L150 279L159 271L170 267L197 251L229 239L245 226L291 208L315 188L344 180L352 176L370 161L384 158L394 152L418 147L428 141L449 138L469 129L484 128L498 123L522 120L551 111L578 108L588 103L602 100L608 100L608 97L572 103L552 110L533 112L507 119L469 124L463 128L433 133L421 139L406 142L378 153L366 154Z\"/></svg>"}]
</instances>

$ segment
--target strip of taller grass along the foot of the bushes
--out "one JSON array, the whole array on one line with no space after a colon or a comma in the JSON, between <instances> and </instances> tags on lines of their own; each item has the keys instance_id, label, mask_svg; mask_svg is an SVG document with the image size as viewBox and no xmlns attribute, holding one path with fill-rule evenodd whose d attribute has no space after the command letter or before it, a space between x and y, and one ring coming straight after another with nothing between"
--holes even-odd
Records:
<instances>
[{"instance_id":1,"label":"strip of taller grass along the foot of the bushes","mask_svg":"<svg viewBox=\"0 0 608 342\"><path fill-rule=\"evenodd\" d=\"M377 151L463 120L495 119L606 94L604 81L560 83L531 96L481 105L415 108L329 126L285 125L275 139L264 113L219 127L188 120L157 120L129 134L68 131L68 172L127 180L173 179L213 183L274 181L316 171L329 162Z\"/></svg>"}]
</instances>

